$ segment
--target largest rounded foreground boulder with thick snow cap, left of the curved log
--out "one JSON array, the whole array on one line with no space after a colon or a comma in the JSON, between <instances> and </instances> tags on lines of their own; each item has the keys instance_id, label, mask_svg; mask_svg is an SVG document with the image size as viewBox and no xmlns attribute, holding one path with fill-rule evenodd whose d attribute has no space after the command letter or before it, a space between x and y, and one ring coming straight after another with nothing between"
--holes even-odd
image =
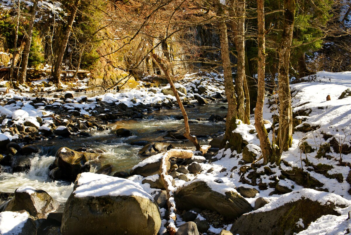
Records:
<instances>
[{"instance_id":1,"label":"largest rounded foreground boulder with thick snow cap, left of the curved log","mask_svg":"<svg viewBox=\"0 0 351 235\"><path fill-rule=\"evenodd\" d=\"M128 179L82 173L62 216L61 233L156 235L161 216L151 195Z\"/></svg>"}]
</instances>

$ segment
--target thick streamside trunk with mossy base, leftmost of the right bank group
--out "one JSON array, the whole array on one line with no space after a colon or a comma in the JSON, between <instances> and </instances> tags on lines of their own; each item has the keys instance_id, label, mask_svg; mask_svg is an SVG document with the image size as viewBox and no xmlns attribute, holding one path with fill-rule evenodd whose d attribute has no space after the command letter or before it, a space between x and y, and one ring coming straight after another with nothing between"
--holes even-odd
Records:
<instances>
[{"instance_id":1,"label":"thick streamside trunk with mossy base, leftmost of the right bank group","mask_svg":"<svg viewBox=\"0 0 351 235\"><path fill-rule=\"evenodd\" d=\"M228 113L226 117L226 130L223 139L222 146L230 148L231 146L237 145L237 141L234 138L233 130L237 127L237 98L235 94L235 88L233 85L232 68L229 58L229 45L228 45L228 34L227 25L225 23L225 14L219 0L214 1L214 7L218 17L217 24L219 30L219 40L221 46L221 58L224 72L224 90L228 100ZM240 143L241 145L241 143Z\"/></svg>"}]
</instances>

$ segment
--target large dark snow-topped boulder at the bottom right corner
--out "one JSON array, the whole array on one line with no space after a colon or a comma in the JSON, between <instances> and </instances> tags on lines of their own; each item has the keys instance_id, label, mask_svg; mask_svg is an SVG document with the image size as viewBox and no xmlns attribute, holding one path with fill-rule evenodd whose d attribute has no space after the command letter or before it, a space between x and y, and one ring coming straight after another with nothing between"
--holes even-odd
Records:
<instances>
[{"instance_id":1,"label":"large dark snow-topped boulder at the bottom right corner","mask_svg":"<svg viewBox=\"0 0 351 235\"><path fill-rule=\"evenodd\" d=\"M289 235L302 231L322 215L339 215L350 202L334 193L302 189L284 194L264 207L242 215L231 232L240 235ZM299 224L303 226L299 226Z\"/></svg>"}]
</instances>

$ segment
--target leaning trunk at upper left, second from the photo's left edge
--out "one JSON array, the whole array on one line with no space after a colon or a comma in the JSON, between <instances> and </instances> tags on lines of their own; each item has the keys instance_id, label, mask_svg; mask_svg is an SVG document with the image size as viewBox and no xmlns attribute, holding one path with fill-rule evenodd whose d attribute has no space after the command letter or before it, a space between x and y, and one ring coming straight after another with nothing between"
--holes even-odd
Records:
<instances>
[{"instance_id":1,"label":"leaning trunk at upper left, second from the photo's left edge","mask_svg":"<svg viewBox=\"0 0 351 235\"><path fill-rule=\"evenodd\" d=\"M35 20L35 13L37 13L38 2L39 0L35 0L31 9L31 20L29 21L27 41L24 47L23 57L22 57L22 68L20 72L20 77L18 78L18 82L21 84L26 82L29 51L31 49L31 44L32 44L33 26L34 26L34 20Z\"/></svg>"}]
</instances>

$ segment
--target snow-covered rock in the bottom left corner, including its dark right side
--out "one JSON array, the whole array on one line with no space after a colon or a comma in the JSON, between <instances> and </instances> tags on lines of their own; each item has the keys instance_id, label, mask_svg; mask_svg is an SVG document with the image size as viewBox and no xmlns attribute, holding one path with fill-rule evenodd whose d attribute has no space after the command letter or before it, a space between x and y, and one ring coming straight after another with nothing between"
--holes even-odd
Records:
<instances>
[{"instance_id":1,"label":"snow-covered rock in the bottom left corner, including its dark right side","mask_svg":"<svg viewBox=\"0 0 351 235\"><path fill-rule=\"evenodd\" d=\"M20 218L20 221L19 221ZM6 225L3 223L7 223ZM22 224L23 223L23 224ZM6 235L37 235L37 227L35 226L34 218L25 210L20 211L4 211L0 213L0 228L8 227L8 224L14 226L7 231L0 229L0 234ZM23 225L19 229L20 225ZM16 231L16 233L14 233Z\"/></svg>"}]
</instances>

